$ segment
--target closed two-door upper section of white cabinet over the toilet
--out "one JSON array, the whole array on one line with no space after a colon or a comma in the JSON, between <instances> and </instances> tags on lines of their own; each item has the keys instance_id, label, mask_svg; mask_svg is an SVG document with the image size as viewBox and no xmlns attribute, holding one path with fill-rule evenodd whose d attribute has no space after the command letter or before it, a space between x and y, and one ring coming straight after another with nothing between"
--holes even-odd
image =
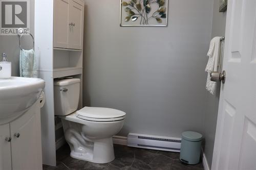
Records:
<instances>
[{"instance_id":1,"label":"closed two-door upper section of white cabinet over the toilet","mask_svg":"<svg viewBox=\"0 0 256 170\"><path fill-rule=\"evenodd\" d=\"M84 4L80 0L54 1L54 47L82 50Z\"/></svg>"}]
</instances>

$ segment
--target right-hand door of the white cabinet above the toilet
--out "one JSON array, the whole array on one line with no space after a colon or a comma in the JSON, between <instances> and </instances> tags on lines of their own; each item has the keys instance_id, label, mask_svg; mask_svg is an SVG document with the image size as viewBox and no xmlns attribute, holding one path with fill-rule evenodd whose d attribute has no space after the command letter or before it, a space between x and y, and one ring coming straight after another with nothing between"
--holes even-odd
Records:
<instances>
[{"instance_id":1,"label":"right-hand door of the white cabinet above the toilet","mask_svg":"<svg viewBox=\"0 0 256 170\"><path fill-rule=\"evenodd\" d=\"M79 3L79 4L78 4ZM78 0L70 0L69 6L69 48L82 49L83 41L83 9Z\"/></svg>"}]
</instances>

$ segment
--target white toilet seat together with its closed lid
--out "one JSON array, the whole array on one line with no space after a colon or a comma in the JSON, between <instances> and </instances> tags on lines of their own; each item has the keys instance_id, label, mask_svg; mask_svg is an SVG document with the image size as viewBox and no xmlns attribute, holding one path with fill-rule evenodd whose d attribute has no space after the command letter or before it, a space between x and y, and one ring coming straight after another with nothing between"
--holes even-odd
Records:
<instances>
[{"instance_id":1,"label":"white toilet seat together with its closed lid","mask_svg":"<svg viewBox=\"0 0 256 170\"><path fill-rule=\"evenodd\" d=\"M102 107L83 107L76 111L76 117L93 122L113 122L125 118L125 112Z\"/></svg>"}]
</instances>

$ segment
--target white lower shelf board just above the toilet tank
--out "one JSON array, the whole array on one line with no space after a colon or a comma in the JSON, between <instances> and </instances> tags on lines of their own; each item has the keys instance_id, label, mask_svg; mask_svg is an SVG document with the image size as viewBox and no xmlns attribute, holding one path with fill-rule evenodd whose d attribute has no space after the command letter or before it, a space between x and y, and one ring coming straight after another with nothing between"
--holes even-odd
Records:
<instances>
[{"instance_id":1,"label":"white lower shelf board just above the toilet tank","mask_svg":"<svg viewBox=\"0 0 256 170\"><path fill-rule=\"evenodd\" d=\"M53 69L53 78L60 78L66 76L82 74L82 67L63 67Z\"/></svg>"}]
</instances>

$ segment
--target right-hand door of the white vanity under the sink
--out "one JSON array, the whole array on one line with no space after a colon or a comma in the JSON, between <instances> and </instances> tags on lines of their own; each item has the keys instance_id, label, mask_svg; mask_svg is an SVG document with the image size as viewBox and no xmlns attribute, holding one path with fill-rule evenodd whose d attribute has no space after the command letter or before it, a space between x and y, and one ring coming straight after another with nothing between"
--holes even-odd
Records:
<instances>
[{"instance_id":1,"label":"right-hand door of the white vanity under the sink","mask_svg":"<svg viewBox=\"0 0 256 170\"><path fill-rule=\"evenodd\" d=\"M10 123L12 169L42 169L40 105ZM16 135L15 135L16 134Z\"/></svg>"}]
</instances>

